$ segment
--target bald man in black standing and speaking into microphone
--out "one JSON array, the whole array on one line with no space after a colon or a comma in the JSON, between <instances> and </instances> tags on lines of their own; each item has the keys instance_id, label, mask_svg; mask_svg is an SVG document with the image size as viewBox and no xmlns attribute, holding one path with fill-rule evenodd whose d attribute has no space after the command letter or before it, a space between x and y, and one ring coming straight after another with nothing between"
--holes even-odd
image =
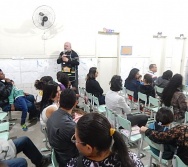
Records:
<instances>
[{"instance_id":1,"label":"bald man in black standing and speaking into microphone","mask_svg":"<svg viewBox=\"0 0 188 167\"><path fill-rule=\"evenodd\" d=\"M78 65L79 57L78 54L72 50L71 43L65 42L64 51L62 51L57 59L57 64L61 63L62 72L69 76L72 87L76 88L78 92Z\"/></svg>"}]
</instances>

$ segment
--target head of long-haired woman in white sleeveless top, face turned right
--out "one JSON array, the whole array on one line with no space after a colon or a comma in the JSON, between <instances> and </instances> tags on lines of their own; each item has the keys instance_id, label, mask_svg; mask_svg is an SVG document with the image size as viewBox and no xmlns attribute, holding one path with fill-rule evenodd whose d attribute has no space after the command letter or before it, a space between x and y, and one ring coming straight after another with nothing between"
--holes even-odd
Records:
<instances>
[{"instance_id":1,"label":"head of long-haired woman in white sleeveless top, face turned right","mask_svg":"<svg viewBox=\"0 0 188 167\"><path fill-rule=\"evenodd\" d=\"M60 87L54 81L49 81L43 87L43 95L41 100L41 110L54 102L59 102L60 99Z\"/></svg>"}]
</instances>

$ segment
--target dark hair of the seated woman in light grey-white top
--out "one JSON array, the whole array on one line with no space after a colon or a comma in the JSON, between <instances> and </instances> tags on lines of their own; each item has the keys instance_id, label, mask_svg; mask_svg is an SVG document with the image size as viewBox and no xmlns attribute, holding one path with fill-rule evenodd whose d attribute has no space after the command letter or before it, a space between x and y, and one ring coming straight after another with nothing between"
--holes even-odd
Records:
<instances>
[{"instance_id":1,"label":"dark hair of the seated woman in light grey-white top","mask_svg":"<svg viewBox=\"0 0 188 167\"><path fill-rule=\"evenodd\" d=\"M119 75L114 75L110 81L110 89L112 91L120 91L122 90L122 79Z\"/></svg>"}]
</instances>

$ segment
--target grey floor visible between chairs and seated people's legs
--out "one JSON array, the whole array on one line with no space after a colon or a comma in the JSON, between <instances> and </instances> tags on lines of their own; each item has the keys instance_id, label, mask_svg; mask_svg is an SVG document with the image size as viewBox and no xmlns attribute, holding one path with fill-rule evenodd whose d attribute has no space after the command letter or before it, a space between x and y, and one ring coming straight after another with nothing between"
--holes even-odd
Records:
<instances>
[{"instance_id":1,"label":"grey floor visible between chairs and seated people's legs","mask_svg":"<svg viewBox=\"0 0 188 167\"><path fill-rule=\"evenodd\" d=\"M12 112L12 117L13 118L17 118L15 122L16 124L11 128L10 130L10 138L17 138L20 136L28 136L33 143L37 146L37 148L40 150L41 148L44 147L44 143L42 142L44 135L40 130L40 122L33 122L33 124L27 123L28 125L28 131L24 132L22 131L21 127L20 127L20 114L21 112L19 111L14 111ZM137 148L130 148L131 151L137 153ZM45 152L44 154L47 154L49 152ZM144 163L144 165L148 165L149 162L149 154L147 152L145 152L146 157L142 158L142 162ZM25 157L24 154L20 153L18 154L18 157ZM26 157L25 157L26 158ZM30 160L28 158L27 162L28 162L28 166L29 167L34 167L34 165L30 162Z\"/></svg>"}]
</instances>

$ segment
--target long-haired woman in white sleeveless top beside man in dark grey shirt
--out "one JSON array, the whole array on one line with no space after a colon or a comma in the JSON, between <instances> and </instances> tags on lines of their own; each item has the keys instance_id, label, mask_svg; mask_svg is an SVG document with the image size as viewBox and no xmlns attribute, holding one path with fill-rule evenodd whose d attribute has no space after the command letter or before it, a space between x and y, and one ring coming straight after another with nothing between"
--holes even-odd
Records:
<instances>
[{"instance_id":1,"label":"long-haired woman in white sleeveless top beside man in dark grey shirt","mask_svg":"<svg viewBox=\"0 0 188 167\"><path fill-rule=\"evenodd\" d=\"M59 108L60 87L54 81L49 81L47 84L40 83L42 87L37 85L39 89L43 90L42 100L40 102L40 123L46 126L46 122L51 114Z\"/></svg>"}]
</instances>

